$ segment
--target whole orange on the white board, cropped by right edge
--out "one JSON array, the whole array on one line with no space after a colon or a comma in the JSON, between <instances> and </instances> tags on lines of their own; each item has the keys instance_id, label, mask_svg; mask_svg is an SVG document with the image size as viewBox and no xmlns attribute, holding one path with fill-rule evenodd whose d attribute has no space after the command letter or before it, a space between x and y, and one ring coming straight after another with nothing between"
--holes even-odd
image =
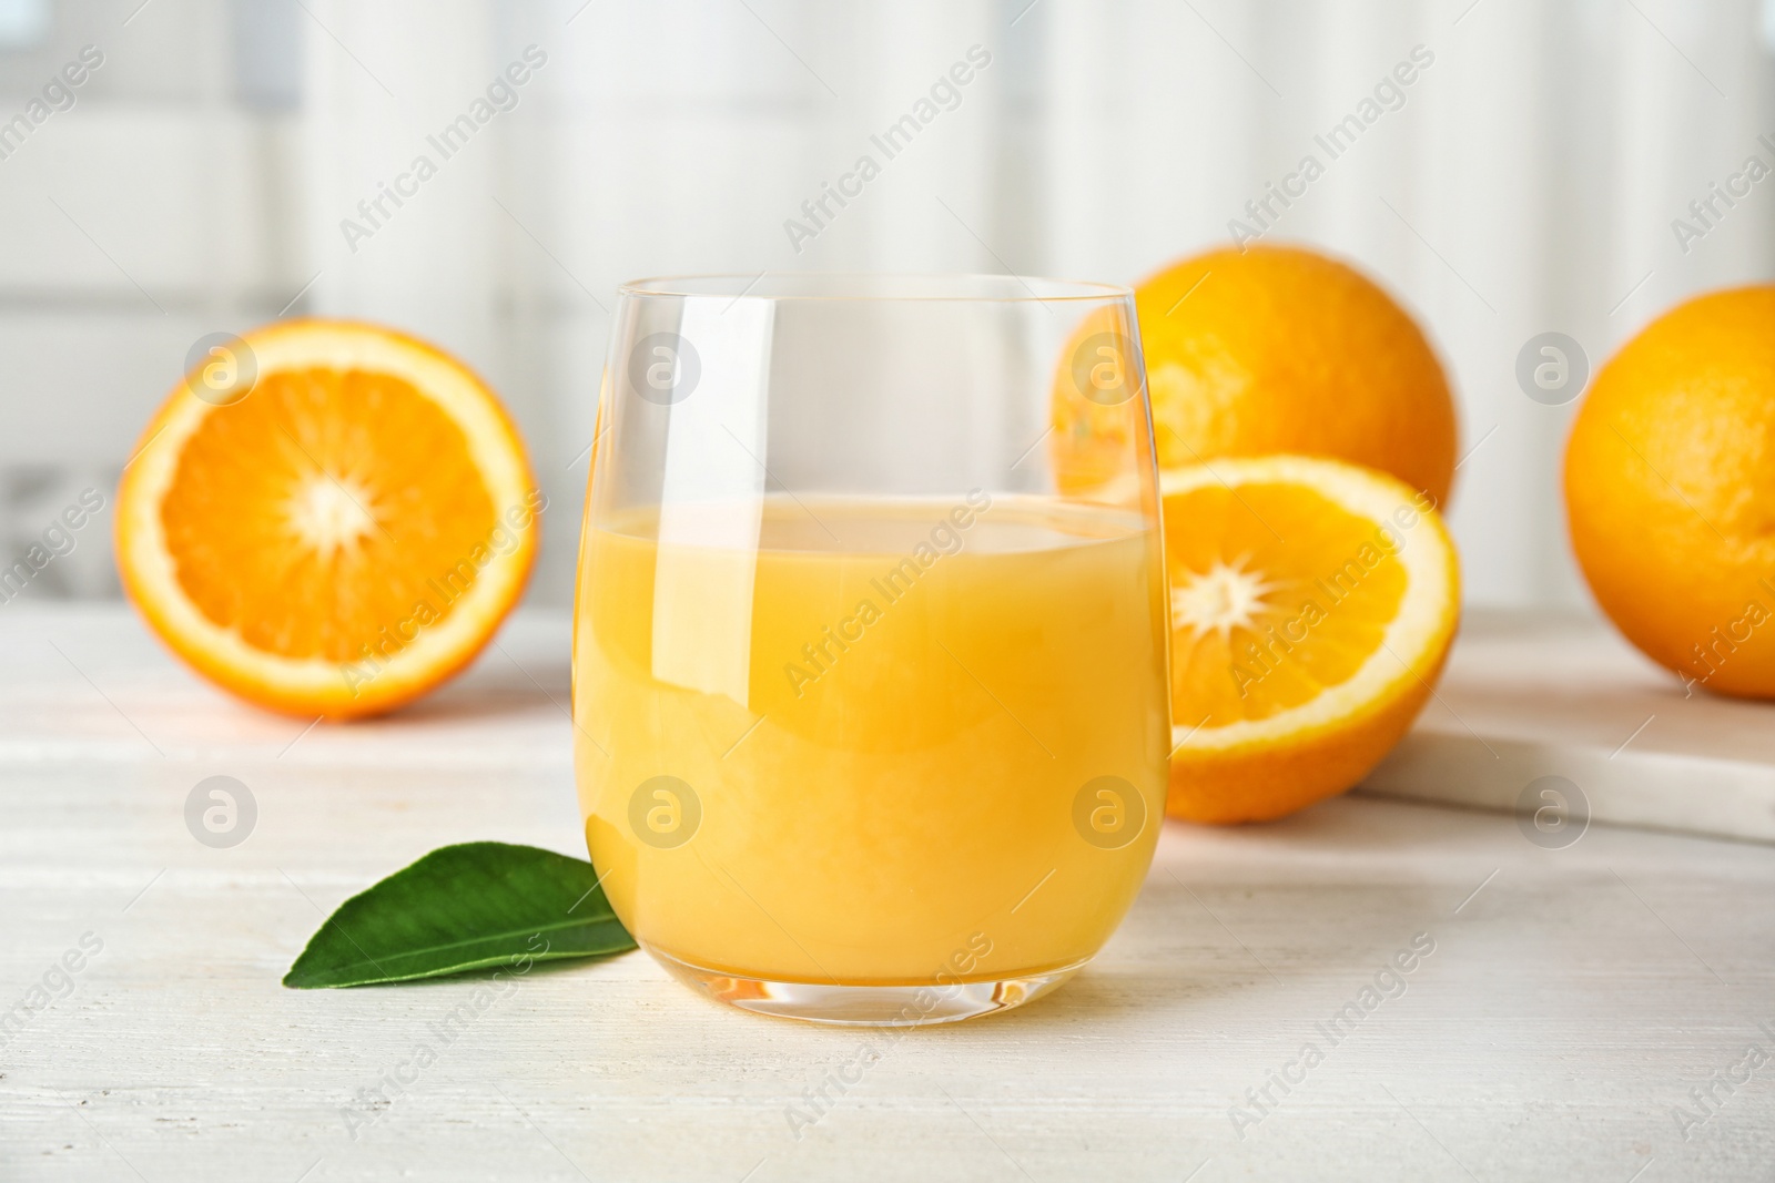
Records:
<instances>
[{"instance_id":1,"label":"whole orange on the white board, cropped by right edge","mask_svg":"<svg viewBox=\"0 0 1775 1183\"><path fill-rule=\"evenodd\" d=\"M1566 520L1645 656L1775 697L1775 287L1677 305L1610 358L1566 443Z\"/></svg>"}]
</instances>

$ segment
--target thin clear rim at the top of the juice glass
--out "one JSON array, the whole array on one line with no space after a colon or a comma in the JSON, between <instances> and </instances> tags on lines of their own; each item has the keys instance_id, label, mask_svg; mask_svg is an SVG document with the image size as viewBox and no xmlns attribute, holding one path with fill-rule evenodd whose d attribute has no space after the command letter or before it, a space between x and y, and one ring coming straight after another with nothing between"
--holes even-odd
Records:
<instances>
[{"instance_id":1,"label":"thin clear rim at the top of the juice glass","mask_svg":"<svg viewBox=\"0 0 1775 1183\"><path fill-rule=\"evenodd\" d=\"M644 300L820 300L1063 303L1131 300L1134 289L1097 280L1003 271L760 271L756 275L655 275L618 284L618 294Z\"/></svg>"}]
</instances>

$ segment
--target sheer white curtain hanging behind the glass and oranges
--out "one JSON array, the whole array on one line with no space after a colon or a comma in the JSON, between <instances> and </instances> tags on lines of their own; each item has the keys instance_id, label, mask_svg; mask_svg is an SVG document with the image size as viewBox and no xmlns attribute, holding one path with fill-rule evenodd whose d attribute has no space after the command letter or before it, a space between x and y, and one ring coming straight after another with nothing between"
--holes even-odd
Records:
<instances>
[{"instance_id":1,"label":"sheer white curtain hanging behind the glass and oranges","mask_svg":"<svg viewBox=\"0 0 1775 1183\"><path fill-rule=\"evenodd\" d=\"M607 310L673 271L1015 270L1134 282L1228 241L1305 154L1324 176L1266 238L1345 255L1436 342L1461 399L1468 598L1582 603L1558 459L1571 406L1516 356L1558 330L1592 369L1670 303L1766 278L1775 183L1679 243L1676 218L1775 165L1750 0L309 0L304 305L463 353L525 427L552 513L538 598L564 603ZM547 55L369 238L396 181L525 46ZM976 48L978 46L978 48ZM1422 46L1422 48L1418 48ZM802 202L884 158L953 64L939 117L813 238ZM1317 145L1418 66L1335 160ZM969 73L969 71L962 71ZM953 106L953 108L950 108ZM1770 192L1764 192L1770 190ZM799 241L797 241L799 239ZM357 250L351 250L351 245ZM799 250L797 250L799 247ZM1686 250L1684 250L1686 247Z\"/></svg>"}]
</instances>

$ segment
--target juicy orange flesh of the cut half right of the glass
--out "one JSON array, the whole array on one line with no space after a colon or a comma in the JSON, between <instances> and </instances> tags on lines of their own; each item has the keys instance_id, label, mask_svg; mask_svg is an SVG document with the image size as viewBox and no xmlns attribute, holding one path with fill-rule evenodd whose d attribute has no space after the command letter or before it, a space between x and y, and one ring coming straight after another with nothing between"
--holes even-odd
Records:
<instances>
[{"instance_id":1,"label":"juicy orange flesh of the cut half right of the glass","mask_svg":"<svg viewBox=\"0 0 1775 1183\"><path fill-rule=\"evenodd\" d=\"M1406 594L1379 530L1298 484L1166 497L1175 722L1262 720L1349 681Z\"/></svg>"}]
</instances>

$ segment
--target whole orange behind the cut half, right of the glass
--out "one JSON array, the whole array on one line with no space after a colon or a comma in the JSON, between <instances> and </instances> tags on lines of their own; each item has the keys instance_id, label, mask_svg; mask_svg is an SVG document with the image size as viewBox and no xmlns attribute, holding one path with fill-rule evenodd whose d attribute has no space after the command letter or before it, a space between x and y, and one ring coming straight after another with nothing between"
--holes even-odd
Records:
<instances>
[{"instance_id":1,"label":"whole orange behind the cut half, right of the glass","mask_svg":"<svg viewBox=\"0 0 1775 1183\"><path fill-rule=\"evenodd\" d=\"M1448 380L1416 323L1354 268L1299 247L1214 250L1134 300L1161 468L1329 456L1448 500Z\"/></svg>"}]
</instances>

